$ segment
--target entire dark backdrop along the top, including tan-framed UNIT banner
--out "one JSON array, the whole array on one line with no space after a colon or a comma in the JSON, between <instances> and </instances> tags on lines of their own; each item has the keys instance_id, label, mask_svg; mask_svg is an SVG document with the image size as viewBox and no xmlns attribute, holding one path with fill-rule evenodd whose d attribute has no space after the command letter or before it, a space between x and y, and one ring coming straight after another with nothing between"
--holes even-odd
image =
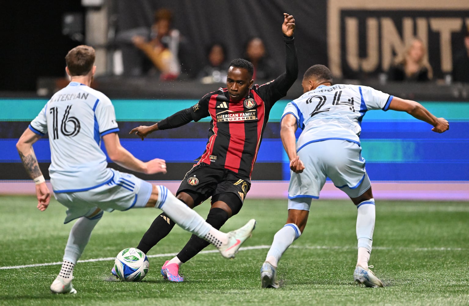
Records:
<instances>
[{"instance_id":1,"label":"entire dark backdrop along the top, including tan-framed UNIT banner","mask_svg":"<svg viewBox=\"0 0 469 306\"><path fill-rule=\"evenodd\" d=\"M228 58L241 57L246 41L259 36L283 71L282 13L295 16L300 76L313 64L328 65L336 77L375 78L413 36L423 39L436 78L452 70L469 25L469 1L461 0L118 0L118 31L150 26L158 8L169 8L174 27L188 40L185 69L204 64L205 47L222 41Z\"/></svg>"}]
</instances>

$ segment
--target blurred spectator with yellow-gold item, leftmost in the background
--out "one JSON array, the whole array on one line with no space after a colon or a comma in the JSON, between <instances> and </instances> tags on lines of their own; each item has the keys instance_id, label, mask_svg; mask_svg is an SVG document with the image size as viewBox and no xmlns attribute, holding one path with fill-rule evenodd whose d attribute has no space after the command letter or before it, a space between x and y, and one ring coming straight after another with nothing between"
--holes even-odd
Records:
<instances>
[{"instance_id":1,"label":"blurred spectator with yellow-gold item, leftmost in the background","mask_svg":"<svg viewBox=\"0 0 469 306\"><path fill-rule=\"evenodd\" d=\"M116 42L121 43L125 75L159 75L166 80L178 78L182 37L178 30L171 28L172 20L171 11L160 8L154 14L151 29L140 27L116 36ZM129 50L129 44L133 44L134 50ZM142 52L135 54L135 47Z\"/></svg>"}]
</instances>

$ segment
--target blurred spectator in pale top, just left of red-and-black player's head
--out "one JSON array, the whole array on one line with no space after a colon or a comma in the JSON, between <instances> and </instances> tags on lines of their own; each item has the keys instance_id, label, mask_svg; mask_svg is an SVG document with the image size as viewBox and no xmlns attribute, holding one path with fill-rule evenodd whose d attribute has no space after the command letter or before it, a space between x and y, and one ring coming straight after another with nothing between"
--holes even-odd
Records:
<instances>
[{"instance_id":1,"label":"blurred spectator in pale top, just left of red-and-black player's head","mask_svg":"<svg viewBox=\"0 0 469 306\"><path fill-rule=\"evenodd\" d=\"M207 48L207 65L197 74L197 78L203 84L226 83L228 65L226 61L227 48L219 42L211 44Z\"/></svg>"}]
</instances>

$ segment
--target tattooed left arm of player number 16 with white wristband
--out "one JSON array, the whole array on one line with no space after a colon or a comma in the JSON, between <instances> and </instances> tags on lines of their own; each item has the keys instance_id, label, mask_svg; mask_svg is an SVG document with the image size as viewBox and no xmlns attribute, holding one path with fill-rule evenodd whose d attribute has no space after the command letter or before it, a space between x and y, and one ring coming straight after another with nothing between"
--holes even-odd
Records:
<instances>
[{"instance_id":1,"label":"tattooed left arm of player number 16 with white wristband","mask_svg":"<svg viewBox=\"0 0 469 306\"><path fill-rule=\"evenodd\" d=\"M23 163L26 172L36 183L38 209L40 211L45 211L51 200L51 192L45 184L44 176L39 169L38 159L36 158L36 154L34 154L34 150L32 149L33 143L38 141L39 138L41 138L41 136L32 132L30 129L26 129L16 143L16 149L20 154L21 162Z\"/></svg>"}]
</instances>

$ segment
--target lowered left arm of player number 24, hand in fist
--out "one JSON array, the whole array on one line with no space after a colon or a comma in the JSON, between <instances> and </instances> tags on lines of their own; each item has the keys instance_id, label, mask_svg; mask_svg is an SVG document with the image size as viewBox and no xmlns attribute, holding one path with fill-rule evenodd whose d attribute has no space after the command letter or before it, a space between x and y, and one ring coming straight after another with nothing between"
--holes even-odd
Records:
<instances>
[{"instance_id":1,"label":"lowered left arm of player number 24, hand in fist","mask_svg":"<svg viewBox=\"0 0 469 306\"><path fill-rule=\"evenodd\" d=\"M287 114L282 118L280 122L280 138L290 160L290 169L295 173L302 173L304 165L300 157L296 155L296 128L295 116Z\"/></svg>"}]
</instances>

